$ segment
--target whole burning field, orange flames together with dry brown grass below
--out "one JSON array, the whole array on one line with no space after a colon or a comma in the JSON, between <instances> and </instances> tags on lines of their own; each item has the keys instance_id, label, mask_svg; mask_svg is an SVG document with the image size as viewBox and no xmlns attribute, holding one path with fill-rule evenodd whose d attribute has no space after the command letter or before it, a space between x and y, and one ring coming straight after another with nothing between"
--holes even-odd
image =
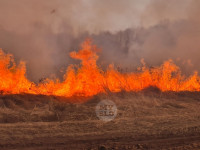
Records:
<instances>
[{"instance_id":1,"label":"whole burning field, orange flames together with dry brown grass below","mask_svg":"<svg viewBox=\"0 0 200 150\"><path fill-rule=\"evenodd\" d=\"M87 39L70 53L80 66L70 65L62 82L37 84L26 78L24 62L16 65L1 51L2 149L200 148L197 73L186 78L171 60L153 68L143 64L136 72L113 65L103 71L98 51ZM103 99L117 106L110 122L95 113Z\"/></svg>"}]
</instances>

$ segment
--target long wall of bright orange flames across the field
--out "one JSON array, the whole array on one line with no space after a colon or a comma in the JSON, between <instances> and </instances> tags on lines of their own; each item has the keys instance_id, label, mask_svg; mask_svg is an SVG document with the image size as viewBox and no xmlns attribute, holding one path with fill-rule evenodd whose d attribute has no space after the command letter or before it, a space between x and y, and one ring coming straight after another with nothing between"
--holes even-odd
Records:
<instances>
[{"instance_id":1,"label":"long wall of bright orange flames across the field","mask_svg":"<svg viewBox=\"0 0 200 150\"><path fill-rule=\"evenodd\" d=\"M108 91L140 91L149 86L156 86L161 91L200 91L197 72L186 78L172 60L155 68L147 68L144 64L140 71L132 73L121 73L112 65L103 71L96 64L97 51L91 40L86 40L79 52L70 53L72 58L81 60L81 67L70 65L63 81L46 79L43 83L35 84L26 78L24 62L16 65L11 54L0 50L0 91L2 94L30 93L65 97L87 97Z\"/></svg>"}]
</instances>

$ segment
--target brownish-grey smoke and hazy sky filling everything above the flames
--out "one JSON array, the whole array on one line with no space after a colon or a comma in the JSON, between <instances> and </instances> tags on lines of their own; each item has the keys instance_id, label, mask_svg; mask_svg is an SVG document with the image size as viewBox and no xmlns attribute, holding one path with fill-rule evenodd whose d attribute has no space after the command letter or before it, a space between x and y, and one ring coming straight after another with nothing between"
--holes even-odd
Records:
<instances>
[{"instance_id":1,"label":"brownish-grey smoke and hazy sky filling everything above the flames","mask_svg":"<svg viewBox=\"0 0 200 150\"><path fill-rule=\"evenodd\" d=\"M200 71L199 0L0 0L0 48L26 61L33 81L61 77L90 37L99 63L135 68L173 59Z\"/></svg>"}]
</instances>

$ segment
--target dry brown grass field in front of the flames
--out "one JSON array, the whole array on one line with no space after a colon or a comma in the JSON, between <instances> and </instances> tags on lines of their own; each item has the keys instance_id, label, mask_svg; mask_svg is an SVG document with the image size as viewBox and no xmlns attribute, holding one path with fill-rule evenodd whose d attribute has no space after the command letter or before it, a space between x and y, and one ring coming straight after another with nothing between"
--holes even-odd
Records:
<instances>
[{"instance_id":1,"label":"dry brown grass field in front of the flames","mask_svg":"<svg viewBox=\"0 0 200 150\"><path fill-rule=\"evenodd\" d=\"M147 89L97 95L84 103L43 95L0 96L0 149L200 149L200 93ZM110 122L95 107L118 108Z\"/></svg>"}]
</instances>

